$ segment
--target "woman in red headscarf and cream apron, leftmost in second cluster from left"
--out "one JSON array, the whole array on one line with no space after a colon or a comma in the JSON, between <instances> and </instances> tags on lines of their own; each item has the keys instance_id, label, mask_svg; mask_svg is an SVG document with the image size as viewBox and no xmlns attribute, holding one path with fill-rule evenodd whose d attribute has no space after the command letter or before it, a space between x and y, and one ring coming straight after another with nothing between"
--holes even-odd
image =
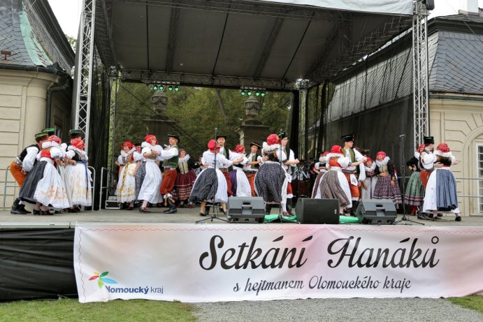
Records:
<instances>
[{"instance_id":1,"label":"woman in red headscarf and cream apron, leftmost in second cluster from left","mask_svg":"<svg viewBox=\"0 0 483 322\"><path fill-rule=\"evenodd\" d=\"M134 159L134 154L137 153L134 144L126 141L122 143L121 148L121 154L117 158L121 171L117 181L116 197L118 203L129 203L127 210L133 210L136 201L136 168L140 163L136 163ZM137 159L140 159L139 156Z\"/></svg>"}]
</instances>

